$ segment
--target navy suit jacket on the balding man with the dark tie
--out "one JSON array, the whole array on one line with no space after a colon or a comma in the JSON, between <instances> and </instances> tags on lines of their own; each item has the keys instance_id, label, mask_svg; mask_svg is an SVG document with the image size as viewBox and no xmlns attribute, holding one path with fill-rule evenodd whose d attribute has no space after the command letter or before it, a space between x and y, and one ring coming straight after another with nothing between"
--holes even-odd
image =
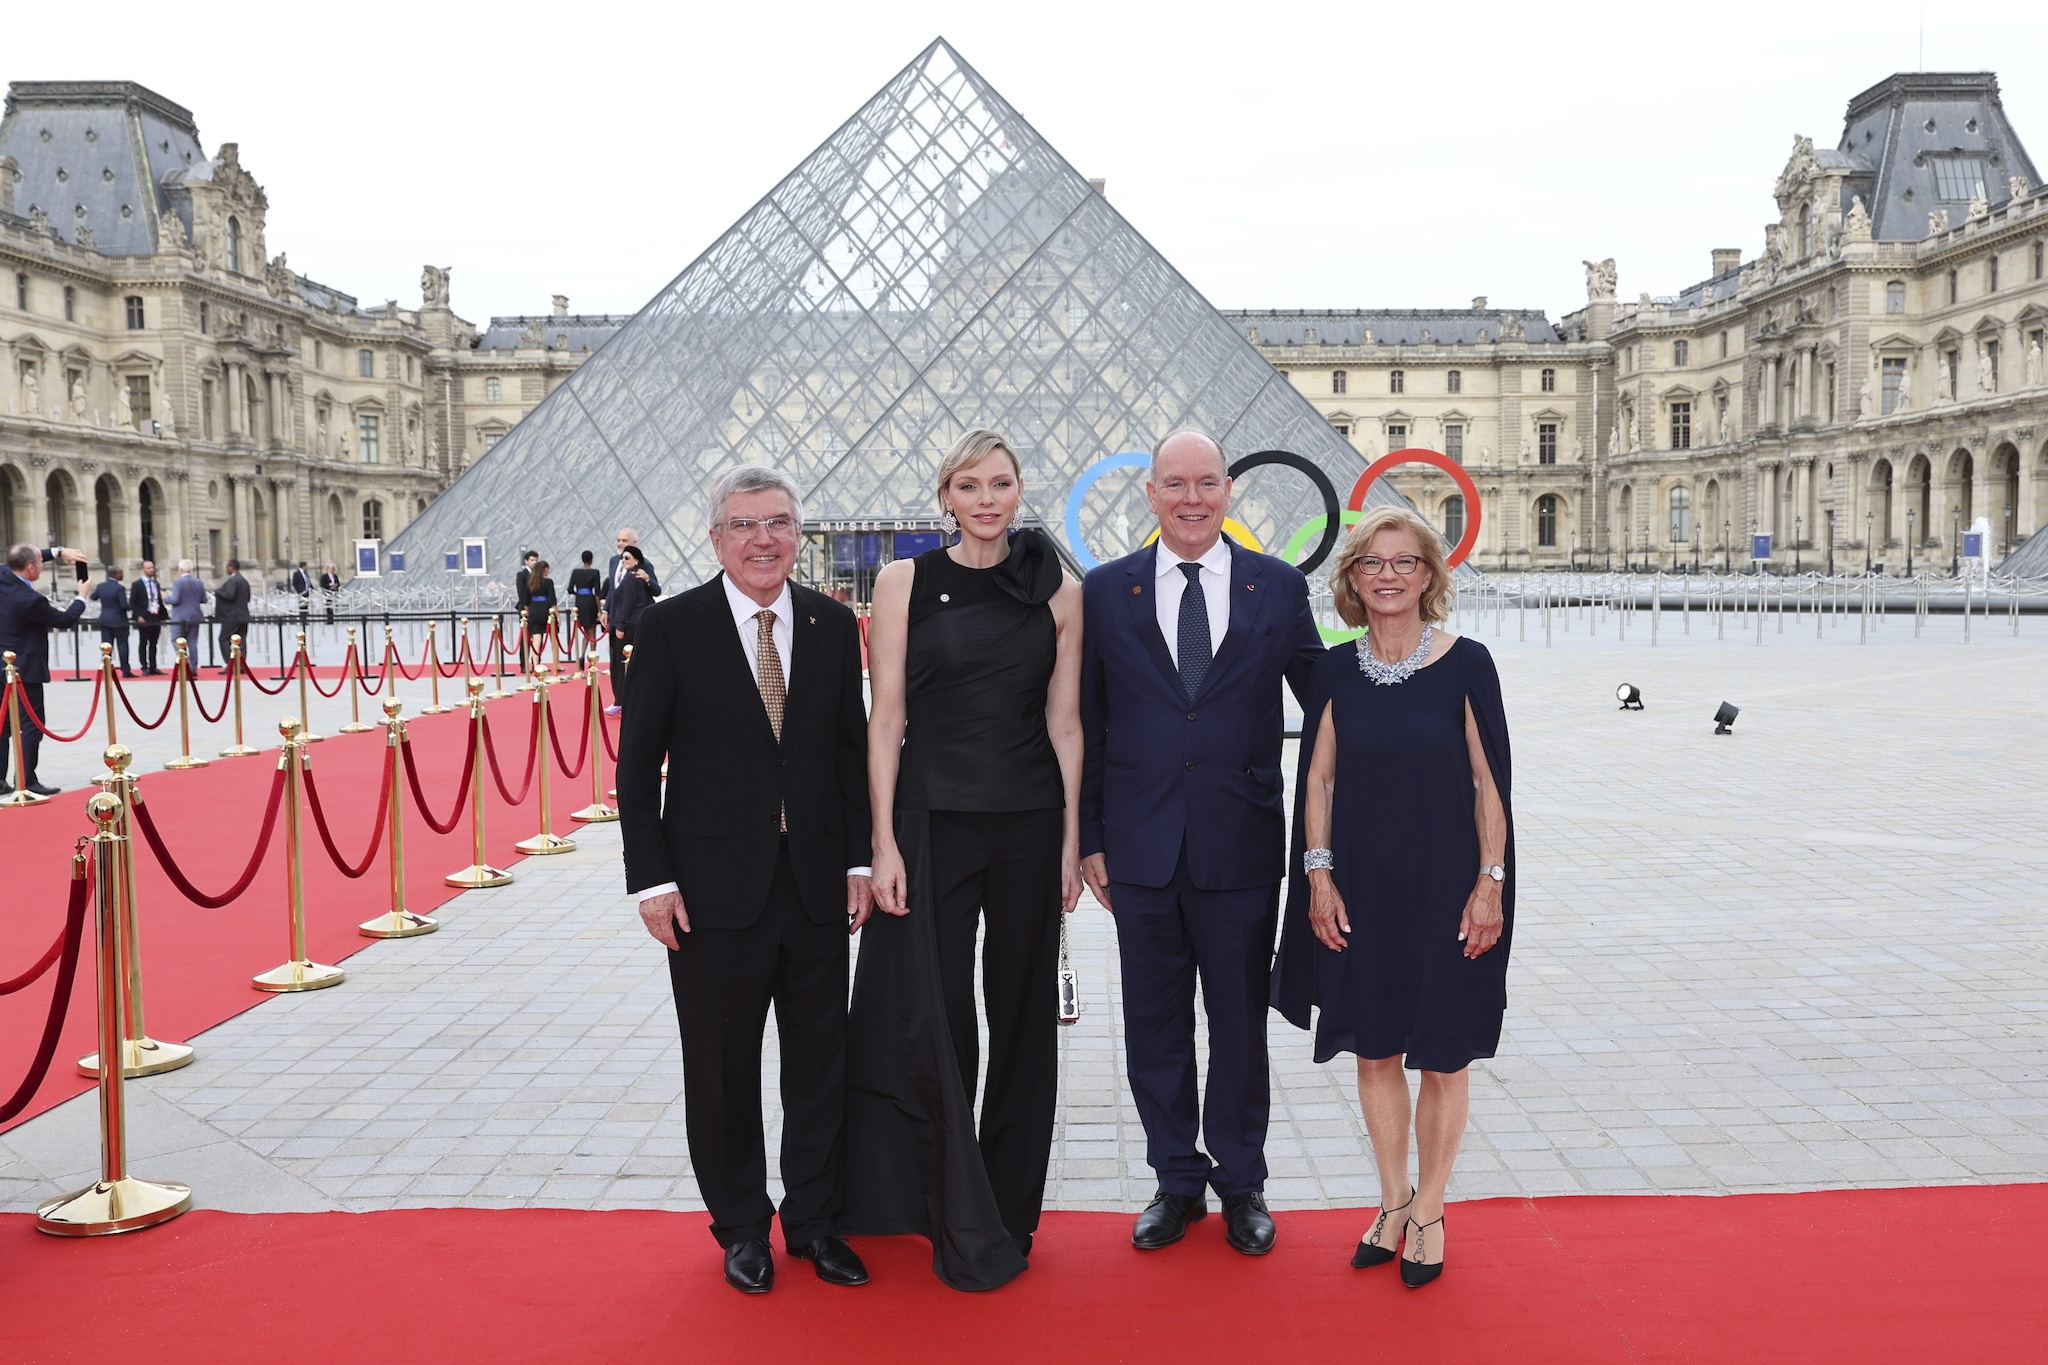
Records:
<instances>
[{"instance_id":1,"label":"navy suit jacket on the balding man with the dark tie","mask_svg":"<svg viewBox=\"0 0 2048 1365\"><path fill-rule=\"evenodd\" d=\"M1081 583L1081 855L1110 880L1167 886L1188 849L1202 890L1286 874L1280 684L1298 698L1323 641L1309 581L1231 542L1231 628L1190 702L1159 634L1157 546Z\"/></svg>"}]
</instances>

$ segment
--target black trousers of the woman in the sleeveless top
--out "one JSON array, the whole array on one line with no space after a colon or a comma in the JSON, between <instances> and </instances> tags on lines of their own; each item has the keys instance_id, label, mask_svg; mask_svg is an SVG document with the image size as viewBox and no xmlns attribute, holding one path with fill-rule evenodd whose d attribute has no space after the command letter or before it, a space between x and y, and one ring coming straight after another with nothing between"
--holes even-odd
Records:
<instances>
[{"instance_id":1,"label":"black trousers of the woman in the sleeveless top","mask_svg":"<svg viewBox=\"0 0 2048 1365\"><path fill-rule=\"evenodd\" d=\"M975 1099L975 929L989 1017L981 1166L1012 1236L1038 1230L1059 1101L1059 810L932 812L938 974L961 1085ZM911 907L915 915L924 907Z\"/></svg>"}]
</instances>

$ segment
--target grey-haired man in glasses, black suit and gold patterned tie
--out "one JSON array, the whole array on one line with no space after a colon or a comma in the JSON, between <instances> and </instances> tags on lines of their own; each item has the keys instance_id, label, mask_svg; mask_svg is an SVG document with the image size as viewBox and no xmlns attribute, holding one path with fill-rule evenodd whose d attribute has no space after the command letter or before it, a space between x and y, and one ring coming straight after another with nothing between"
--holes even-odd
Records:
<instances>
[{"instance_id":1,"label":"grey-haired man in glasses, black suit and gold patterned tie","mask_svg":"<svg viewBox=\"0 0 2048 1365\"><path fill-rule=\"evenodd\" d=\"M774 1285L762 1027L782 1046L782 1242L836 1285L846 1150L846 933L868 917L860 628L788 581L797 485L741 465L711 487L719 577L649 606L618 737L627 890L668 948L690 1164L725 1279ZM786 661L786 663L784 663ZM668 796L662 761L668 759Z\"/></svg>"}]
</instances>

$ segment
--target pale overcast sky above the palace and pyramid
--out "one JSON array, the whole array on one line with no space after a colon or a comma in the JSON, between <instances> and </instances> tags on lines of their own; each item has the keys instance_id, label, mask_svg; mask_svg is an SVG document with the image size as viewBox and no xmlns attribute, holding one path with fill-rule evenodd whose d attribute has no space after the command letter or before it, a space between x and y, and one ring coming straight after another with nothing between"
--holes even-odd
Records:
<instances>
[{"instance_id":1,"label":"pale overcast sky above the palace and pyramid","mask_svg":"<svg viewBox=\"0 0 2048 1365\"><path fill-rule=\"evenodd\" d=\"M1925 59L1921 14L1925 12ZM367 303L631 313L934 37L1219 307L1540 307L1761 250L1794 133L1995 70L2048 164L2048 6L10 6L0 80L137 80L242 145L270 252ZM119 41L98 41L100 35Z\"/></svg>"}]
</instances>

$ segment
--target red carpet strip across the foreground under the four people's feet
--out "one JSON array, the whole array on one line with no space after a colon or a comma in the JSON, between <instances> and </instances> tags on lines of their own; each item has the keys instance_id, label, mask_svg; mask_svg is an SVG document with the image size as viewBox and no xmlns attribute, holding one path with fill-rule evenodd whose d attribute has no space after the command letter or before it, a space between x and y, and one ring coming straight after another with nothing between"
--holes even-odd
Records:
<instances>
[{"instance_id":1,"label":"red carpet strip across the foreground under the four people's feet","mask_svg":"<svg viewBox=\"0 0 2048 1365\"><path fill-rule=\"evenodd\" d=\"M872 1285L829 1289L778 1257L774 1293L743 1297L719 1279L698 1214L199 1212L82 1242L10 1216L0 1218L0 1359L1718 1365L2048 1355L2044 1185L1458 1203L1450 1269L1419 1291L1393 1267L1346 1265L1362 1230L1356 1212L1280 1214L1280 1248L1247 1261L1223 1244L1217 1218L1182 1246L1145 1254L1128 1246L1128 1216L1049 1214L1032 1269L993 1293L942 1287L918 1238L862 1238Z\"/></svg>"}]
</instances>

